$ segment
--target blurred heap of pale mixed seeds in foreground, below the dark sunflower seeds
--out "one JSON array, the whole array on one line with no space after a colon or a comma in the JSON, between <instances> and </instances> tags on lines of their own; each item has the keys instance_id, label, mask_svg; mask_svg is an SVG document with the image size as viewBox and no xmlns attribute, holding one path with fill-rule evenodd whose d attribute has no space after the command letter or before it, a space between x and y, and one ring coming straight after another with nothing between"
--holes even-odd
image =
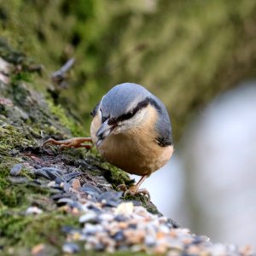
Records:
<instances>
[{"instance_id":1,"label":"blurred heap of pale mixed seeds in foreground, below the dark sunflower seeds","mask_svg":"<svg viewBox=\"0 0 256 256\"><path fill-rule=\"evenodd\" d=\"M119 196L114 192L104 194ZM206 236L195 236L187 229L177 228L172 220L154 215L133 202L121 202L117 207L109 207L108 201L102 199L97 202L84 201L79 207L84 212L79 217L82 228L63 229L67 232L67 243L62 247L66 253L77 252L79 247L76 242L84 241L86 250L108 253L127 250L173 256L253 254L251 247L238 249L214 245Z\"/></svg>"}]
</instances>

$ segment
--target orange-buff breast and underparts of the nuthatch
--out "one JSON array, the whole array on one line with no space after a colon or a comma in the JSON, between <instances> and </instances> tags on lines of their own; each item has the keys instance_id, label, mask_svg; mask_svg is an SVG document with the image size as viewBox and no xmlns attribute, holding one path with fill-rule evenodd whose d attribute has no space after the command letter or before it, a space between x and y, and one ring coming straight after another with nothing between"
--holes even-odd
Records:
<instances>
[{"instance_id":1,"label":"orange-buff breast and underparts of the nuthatch","mask_svg":"<svg viewBox=\"0 0 256 256\"><path fill-rule=\"evenodd\" d=\"M157 137L154 124L157 119L156 110L150 108L151 113L143 125L118 134L114 132L106 137L97 148L102 157L131 174L140 176L150 175L160 169L172 157L173 147L161 147L155 140ZM93 119L90 133L96 143L96 131L101 120L96 115Z\"/></svg>"}]
</instances>

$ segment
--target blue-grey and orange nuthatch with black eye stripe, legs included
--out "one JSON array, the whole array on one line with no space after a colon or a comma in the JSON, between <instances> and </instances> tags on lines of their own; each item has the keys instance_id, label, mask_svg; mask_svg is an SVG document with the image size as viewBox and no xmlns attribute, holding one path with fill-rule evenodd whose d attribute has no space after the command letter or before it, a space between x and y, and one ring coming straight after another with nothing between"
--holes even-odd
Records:
<instances>
[{"instance_id":1,"label":"blue-grey and orange nuthatch with black eye stripe, legs included","mask_svg":"<svg viewBox=\"0 0 256 256\"><path fill-rule=\"evenodd\" d=\"M61 148L91 148L91 144L113 166L141 176L126 188L125 195L147 195L140 189L143 181L166 165L173 153L172 125L163 102L140 84L123 83L113 86L91 112L90 137L74 137L56 141L49 138L45 145ZM91 143L91 144L89 144Z\"/></svg>"}]
</instances>

